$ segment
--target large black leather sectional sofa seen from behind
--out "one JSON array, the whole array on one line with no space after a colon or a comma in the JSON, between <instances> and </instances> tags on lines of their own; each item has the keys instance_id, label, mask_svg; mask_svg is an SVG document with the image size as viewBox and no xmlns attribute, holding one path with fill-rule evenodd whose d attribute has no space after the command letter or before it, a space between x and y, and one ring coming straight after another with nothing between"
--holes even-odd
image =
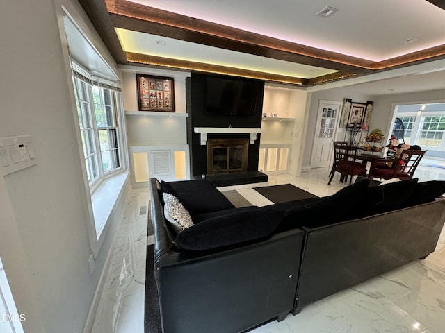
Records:
<instances>
[{"instance_id":1,"label":"large black leather sectional sofa seen from behind","mask_svg":"<svg viewBox=\"0 0 445 333\"><path fill-rule=\"evenodd\" d=\"M235 208L205 180L152 178L163 332L250 330L434 251L445 221L445 200L435 198L445 182L369 182L325 198ZM195 223L179 234L165 219L168 194Z\"/></svg>"}]
</instances>

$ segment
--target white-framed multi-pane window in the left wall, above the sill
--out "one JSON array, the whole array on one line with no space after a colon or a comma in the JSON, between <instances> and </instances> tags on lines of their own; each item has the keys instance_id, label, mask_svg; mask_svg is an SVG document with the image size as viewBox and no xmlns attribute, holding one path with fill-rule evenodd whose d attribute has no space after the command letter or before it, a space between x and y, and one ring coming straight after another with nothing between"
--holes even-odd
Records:
<instances>
[{"instance_id":1,"label":"white-framed multi-pane window in the left wall, above the sill","mask_svg":"<svg viewBox=\"0 0 445 333\"><path fill-rule=\"evenodd\" d=\"M118 89L90 80L74 71L74 95L81 130L83 155L90 187L122 169L118 113Z\"/></svg>"}]
</instances>

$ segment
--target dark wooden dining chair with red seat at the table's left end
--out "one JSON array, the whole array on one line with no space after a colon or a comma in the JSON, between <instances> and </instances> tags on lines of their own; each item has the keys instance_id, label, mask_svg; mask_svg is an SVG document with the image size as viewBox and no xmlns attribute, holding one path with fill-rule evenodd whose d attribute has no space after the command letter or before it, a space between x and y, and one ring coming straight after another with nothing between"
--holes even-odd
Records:
<instances>
[{"instance_id":1,"label":"dark wooden dining chair with red seat at the table's left end","mask_svg":"<svg viewBox=\"0 0 445 333\"><path fill-rule=\"evenodd\" d=\"M347 179L350 176L349 184L353 181L353 176L366 176L367 171L364 164L357 161L359 161L357 147L334 143L334 165L327 185L330 185L336 172L341 174L341 182L345 177Z\"/></svg>"}]
</instances>

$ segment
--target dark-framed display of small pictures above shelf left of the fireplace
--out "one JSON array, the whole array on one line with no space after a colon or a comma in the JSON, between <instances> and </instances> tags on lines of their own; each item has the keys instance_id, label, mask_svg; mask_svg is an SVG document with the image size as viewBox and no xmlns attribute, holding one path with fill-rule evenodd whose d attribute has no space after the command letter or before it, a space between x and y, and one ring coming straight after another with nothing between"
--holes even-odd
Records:
<instances>
[{"instance_id":1,"label":"dark-framed display of small pictures above shelf left of the fireplace","mask_svg":"<svg viewBox=\"0 0 445 333\"><path fill-rule=\"evenodd\" d=\"M139 111L175 112L173 78L136 74Z\"/></svg>"}]
</instances>

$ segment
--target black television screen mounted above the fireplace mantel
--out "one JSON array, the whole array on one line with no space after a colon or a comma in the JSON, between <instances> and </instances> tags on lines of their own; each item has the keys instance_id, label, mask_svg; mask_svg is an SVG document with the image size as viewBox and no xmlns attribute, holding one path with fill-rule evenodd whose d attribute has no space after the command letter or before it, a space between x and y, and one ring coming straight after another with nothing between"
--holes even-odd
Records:
<instances>
[{"instance_id":1,"label":"black television screen mounted above the fireplace mantel","mask_svg":"<svg viewBox=\"0 0 445 333\"><path fill-rule=\"evenodd\" d=\"M207 76L206 113L252 116L259 89L263 87L256 80Z\"/></svg>"}]
</instances>

